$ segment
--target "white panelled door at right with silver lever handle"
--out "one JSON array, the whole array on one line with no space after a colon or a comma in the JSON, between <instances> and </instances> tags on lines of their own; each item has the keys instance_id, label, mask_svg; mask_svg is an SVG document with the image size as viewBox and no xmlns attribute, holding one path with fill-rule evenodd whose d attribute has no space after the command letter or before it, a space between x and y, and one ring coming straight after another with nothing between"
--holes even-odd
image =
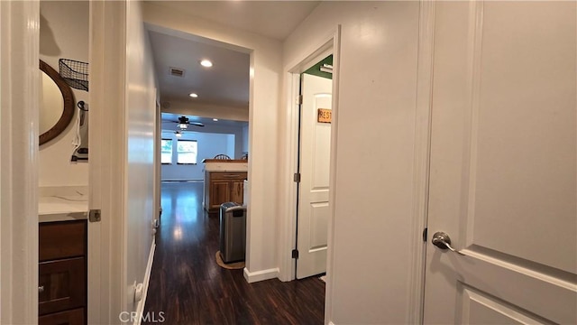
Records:
<instances>
[{"instance_id":1,"label":"white panelled door at right with silver lever handle","mask_svg":"<svg viewBox=\"0 0 577 325\"><path fill-rule=\"evenodd\" d=\"M577 323L576 5L435 7L426 323Z\"/></svg>"}]
</instances>

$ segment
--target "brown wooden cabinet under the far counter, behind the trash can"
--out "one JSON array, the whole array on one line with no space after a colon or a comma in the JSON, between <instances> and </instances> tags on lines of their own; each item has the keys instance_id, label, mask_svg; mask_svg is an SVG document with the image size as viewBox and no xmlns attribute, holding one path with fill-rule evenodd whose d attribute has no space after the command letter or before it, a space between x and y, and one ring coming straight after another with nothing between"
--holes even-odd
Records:
<instances>
[{"instance_id":1,"label":"brown wooden cabinet under the far counter, behind the trash can","mask_svg":"<svg viewBox=\"0 0 577 325\"><path fill-rule=\"evenodd\" d=\"M224 202L243 203L243 184L247 172L206 172L205 209L218 213Z\"/></svg>"}]
</instances>

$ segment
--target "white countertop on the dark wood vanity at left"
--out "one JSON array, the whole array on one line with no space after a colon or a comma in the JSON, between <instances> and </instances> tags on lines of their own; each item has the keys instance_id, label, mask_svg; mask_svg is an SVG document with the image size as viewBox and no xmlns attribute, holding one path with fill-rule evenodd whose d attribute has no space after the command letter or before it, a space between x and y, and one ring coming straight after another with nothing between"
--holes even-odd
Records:
<instances>
[{"instance_id":1,"label":"white countertop on the dark wood vanity at left","mask_svg":"<svg viewBox=\"0 0 577 325\"><path fill-rule=\"evenodd\" d=\"M66 221L88 218L86 195L49 196L38 200L38 221Z\"/></svg>"}]
</instances>

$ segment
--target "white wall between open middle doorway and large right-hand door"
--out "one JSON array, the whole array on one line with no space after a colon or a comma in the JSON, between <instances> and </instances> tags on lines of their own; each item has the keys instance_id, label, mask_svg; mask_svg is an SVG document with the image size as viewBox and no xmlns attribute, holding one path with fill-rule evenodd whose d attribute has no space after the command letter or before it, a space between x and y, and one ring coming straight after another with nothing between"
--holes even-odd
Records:
<instances>
[{"instance_id":1,"label":"white wall between open middle doorway and large right-hand door","mask_svg":"<svg viewBox=\"0 0 577 325\"><path fill-rule=\"evenodd\" d=\"M325 319L334 324L408 322L406 247L421 240L411 237L418 17L418 2L323 2L283 45L289 71L342 26Z\"/></svg>"}]
</instances>

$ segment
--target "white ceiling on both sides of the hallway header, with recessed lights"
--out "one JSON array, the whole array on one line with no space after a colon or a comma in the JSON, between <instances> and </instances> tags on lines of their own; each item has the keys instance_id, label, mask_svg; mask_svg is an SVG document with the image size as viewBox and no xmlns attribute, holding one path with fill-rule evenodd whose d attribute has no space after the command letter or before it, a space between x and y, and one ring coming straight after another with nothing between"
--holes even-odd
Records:
<instances>
[{"instance_id":1,"label":"white ceiling on both sides of the hallway header, with recessed lights","mask_svg":"<svg viewBox=\"0 0 577 325\"><path fill-rule=\"evenodd\" d=\"M319 1L149 1L235 29L255 32L283 41L310 14ZM161 107L179 102L210 107L249 107L250 54L235 51L231 44L197 35L146 25L160 86ZM199 62L212 60L212 68ZM185 70L184 77L169 74L170 68ZM198 98L190 98L194 92ZM177 116L178 117L178 116ZM192 116L188 116L192 117ZM193 120L193 118L191 118ZM209 120L212 122L212 119Z\"/></svg>"}]
</instances>

